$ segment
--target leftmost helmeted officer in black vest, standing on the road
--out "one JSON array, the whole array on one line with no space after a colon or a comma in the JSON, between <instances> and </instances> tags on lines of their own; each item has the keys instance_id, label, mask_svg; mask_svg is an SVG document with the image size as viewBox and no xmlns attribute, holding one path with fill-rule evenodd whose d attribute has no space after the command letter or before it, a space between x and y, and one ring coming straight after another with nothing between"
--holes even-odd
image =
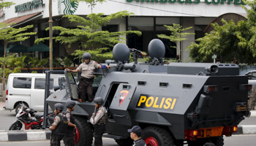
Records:
<instances>
[{"instance_id":1,"label":"leftmost helmeted officer in black vest, standing on the road","mask_svg":"<svg viewBox=\"0 0 256 146\"><path fill-rule=\"evenodd\" d=\"M50 126L50 130L52 131L50 137L50 146L60 146L61 139L63 139L64 135L67 131L67 117L62 113L64 109L63 104L57 103L54 104L54 123L53 126Z\"/></svg>"}]
</instances>

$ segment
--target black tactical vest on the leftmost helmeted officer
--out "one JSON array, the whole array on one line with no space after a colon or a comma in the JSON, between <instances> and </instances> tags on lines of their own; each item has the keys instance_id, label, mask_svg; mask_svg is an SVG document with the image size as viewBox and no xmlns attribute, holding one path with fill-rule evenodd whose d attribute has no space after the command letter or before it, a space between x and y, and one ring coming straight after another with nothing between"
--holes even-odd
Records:
<instances>
[{"instance_id":1,"label":"black tactical vest on the leftmost helmeted officer","mask_svg":"<svg viewBox=\"0 0 256 146\"><path fill-rule=\"evenodd\" d=\"M66 113L62 112L62 115L57 115L57 116L59 116L59 118L61 118L61 121L56 126L56 129L54 130L54 134L65 135L67 132L67 127L68 127Z\"/></svg>"}]
</instances>

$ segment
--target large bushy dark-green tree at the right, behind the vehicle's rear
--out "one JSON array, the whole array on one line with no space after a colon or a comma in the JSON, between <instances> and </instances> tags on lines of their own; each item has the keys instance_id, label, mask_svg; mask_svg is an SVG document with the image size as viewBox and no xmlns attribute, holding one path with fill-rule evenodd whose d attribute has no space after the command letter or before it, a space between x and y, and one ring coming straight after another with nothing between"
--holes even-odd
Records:
<instances>
[{"instance_id":1,"label":"large bushy dark-green tree at the right, behind the vehicle's rear","mask_svg":"<svg viewBox=\"0 0 256 146\"><path fill-rule=\"evenodd\" d=\"M234 59L241 63L254 64L256 50L250 45L251 38L256 31L244 20L227 23L222 19L223 26L212 23L214 28L205 37L196 39L199 43L192 43L188 47L189 55L196 62L211 62L211 55L216 54L221 62L231 62Z\"/></svg>"}]
</instances>

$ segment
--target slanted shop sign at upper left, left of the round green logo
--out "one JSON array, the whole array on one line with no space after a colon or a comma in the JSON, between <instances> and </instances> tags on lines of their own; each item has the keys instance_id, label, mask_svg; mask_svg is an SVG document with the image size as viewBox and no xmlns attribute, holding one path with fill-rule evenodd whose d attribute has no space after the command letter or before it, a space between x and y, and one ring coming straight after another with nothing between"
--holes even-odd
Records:
<instances>
[{"instance_id":1,"label":"slanted shop sign at upper left, left of the round green logo","mask_svg":"<svg viewBox=\"0 0 256 146\"><path fill-rule=\"evenodd\" d=\"M29 1L29 2L15 6L15 12L24 12L31 9L35 9L37 7L42 7L42 4L43 4L42 0Z\"/></svg>"}]
</instances>

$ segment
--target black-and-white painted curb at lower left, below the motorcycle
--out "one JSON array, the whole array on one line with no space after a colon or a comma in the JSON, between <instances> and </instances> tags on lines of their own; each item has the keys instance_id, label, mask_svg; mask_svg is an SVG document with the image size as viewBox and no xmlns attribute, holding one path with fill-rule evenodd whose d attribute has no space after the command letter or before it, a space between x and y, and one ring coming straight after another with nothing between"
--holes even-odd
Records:
<instances>
[{"instance_id":1,"label":"black-and-white painted curb at lower left, below the motorcycle","mask_svg":"<svg viewBox=\"0 0 256 146\"><path fill-rule=\"evenodd\" d=\"M0 131L0 142L50 139L51 131Z\"/></svg>"}]
</instances>

